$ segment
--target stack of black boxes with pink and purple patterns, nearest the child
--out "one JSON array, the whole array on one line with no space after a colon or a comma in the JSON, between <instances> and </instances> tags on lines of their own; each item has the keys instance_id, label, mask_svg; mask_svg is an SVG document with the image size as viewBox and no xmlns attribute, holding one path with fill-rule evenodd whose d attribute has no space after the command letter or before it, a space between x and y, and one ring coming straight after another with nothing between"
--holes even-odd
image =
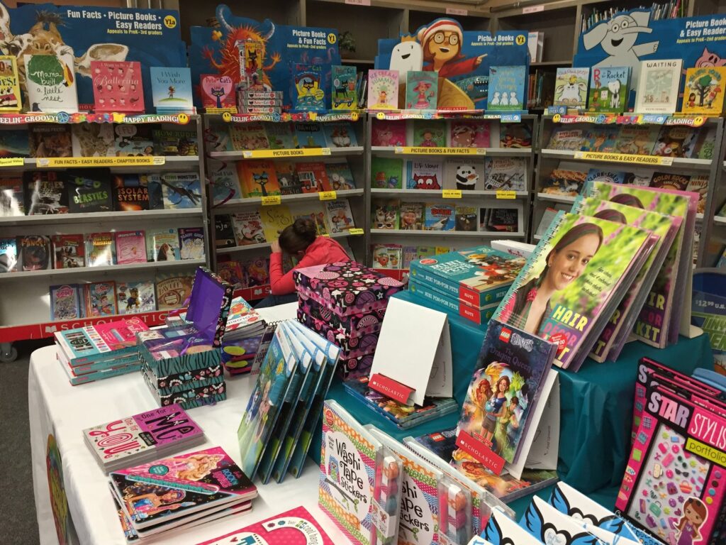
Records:
<instances>
[{"instance_id":1,"label":"stack of black boxes with pink and purple patterns, nearest the child","mask_svg":"<svg viewBox=\"0 0 726 545\"><path fill-rule=\"evenodd\" d=\"M403 283L356 262L295 270L298 320L342 349L338 374L367 376L388 298Z\"/></svg>"}]
</instances>

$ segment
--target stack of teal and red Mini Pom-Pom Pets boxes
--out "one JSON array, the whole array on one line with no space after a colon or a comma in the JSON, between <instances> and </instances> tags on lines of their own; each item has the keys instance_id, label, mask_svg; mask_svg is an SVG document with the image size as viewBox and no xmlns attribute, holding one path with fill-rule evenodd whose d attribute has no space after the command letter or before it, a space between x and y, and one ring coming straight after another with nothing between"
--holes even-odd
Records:
<instances>
[{"instance_id":1,"label":"stack of teal and red Mini Pom-Pom Pets boxes","mask_svg":"<svg viewBox=\"0 0 726 545\"><path fill-rule=\"evenodd\" d=\"M416 302L487 323L525 259L477 246L411 262L409 291Z\"/></svg>"}]
</instances>

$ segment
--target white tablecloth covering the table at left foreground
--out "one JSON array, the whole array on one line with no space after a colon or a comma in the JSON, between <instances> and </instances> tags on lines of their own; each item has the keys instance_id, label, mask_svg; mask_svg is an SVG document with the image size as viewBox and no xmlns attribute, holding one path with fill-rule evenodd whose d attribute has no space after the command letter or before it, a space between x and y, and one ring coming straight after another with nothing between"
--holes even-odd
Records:
<instances>
[{"instance_id":1,"label":"white tablecloth covering the table at left foreground","mask_svg":"<svg viewBox=\"0 0 726 545\"><path fill-rule=\"evenodd\" d=\"M294 318L296 306L293 303L263 309L261 314L268 320ZM189 411L207 437L205 445L197 448L220 445L237 463L240 462L237 427L247 405L250 389L249 377L229 379L227 400ZM51 434L55 437L62 458L62 480L68 498L68 512L73 519L68 525L68 543L125 544L107 487L107 476L99 469L91 451L83 443L81 430L155 408L157 405L142 377L131 374L70 386L60 363L56 361L55 347L45 347L36 350L30 357L28 404L33 489L41 544L58 543L46 470L46 448ZM248 514L225 517L189 530L171 530L166 536L152 536L144 538L142 542L197 544L303 505L334 543L346 543L343 534L317 506L318 475L319 469L308 460L299 479L288 475L280 485L270 483L262 486L256 483L259 497L253 501L253 510ZM62 501L59 503L62 505Z\"/></svg>"}]
</instances>

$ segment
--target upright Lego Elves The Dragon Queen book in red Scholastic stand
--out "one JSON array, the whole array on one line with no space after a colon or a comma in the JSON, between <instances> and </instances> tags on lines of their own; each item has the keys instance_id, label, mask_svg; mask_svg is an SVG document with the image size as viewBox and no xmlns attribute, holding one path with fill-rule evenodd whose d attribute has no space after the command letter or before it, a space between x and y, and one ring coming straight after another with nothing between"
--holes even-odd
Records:
<instances>
[{"instance_id":1,"label":"upright Lego Elves The Dragon Queen book in red Scholastic stand","mask_svg":"<svg viewBox=\"0 0 726 545\"><path fill-rule=\"evenodd\" d=\"M547 400L539 389L556 346L521 329L489 321L458 424L457 445L487 469L502 472L519 453L529 417Z\"/></svg>"}]
</instances>

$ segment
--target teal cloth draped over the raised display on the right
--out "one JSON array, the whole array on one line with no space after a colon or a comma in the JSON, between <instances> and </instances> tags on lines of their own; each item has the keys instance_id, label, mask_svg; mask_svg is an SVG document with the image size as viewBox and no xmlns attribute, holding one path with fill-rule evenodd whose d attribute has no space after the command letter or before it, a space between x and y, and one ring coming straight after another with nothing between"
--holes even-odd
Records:
<instances>
[{"instance_id":1,"label":"teal cloth draped over the raised display on the right","mask_svg":"<svg viewBox=\"0 0 726 545\"><path fill-rule=\"evenodd\" d=\"M395 297L415 302L408 291ZM449 313L452 357L454 362L454 397L462 405L469 386L486 326ZM597 363L588 358L577 373L559 371L560 375L560 479L579 491L590 494L611 508L630 453L630 424L635 395L637 362L643 356L653 358L685 374L696 367L713 368L713 356L706 335L696 339L680 337L672 347L658 350L642 342L626 345L616 362ZM338 401L362 424L374 424L388 435L401 440L409 435L425 435L456 426L458 414L398 429L366 405L348 395L338 379L330 387L330 399ZM319 463L320 431L311 445L310 456ZM549 489L540 493L548 497ZM525 501L526 499L526 501ZM529 497L515 501L526 507Z\"/></svg>"}]
</instances>

